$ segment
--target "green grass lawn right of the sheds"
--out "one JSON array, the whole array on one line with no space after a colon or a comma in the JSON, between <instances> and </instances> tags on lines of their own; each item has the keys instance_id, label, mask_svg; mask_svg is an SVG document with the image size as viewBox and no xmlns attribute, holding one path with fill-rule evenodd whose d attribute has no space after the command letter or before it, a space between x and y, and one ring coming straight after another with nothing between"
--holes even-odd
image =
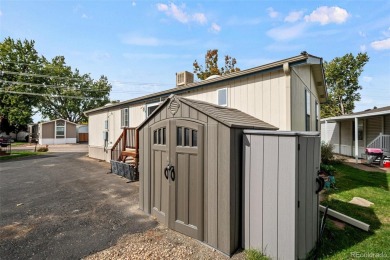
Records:
<instances>
[{"instance_id":1,"label":"green grass lawn right of the sheds","mask_svg":"<svg viewBox=\"0 0 390 260\"><path fill-rule=\"evenodd\" d=\"M366 172L344 164L335 168L338 189L327 191L321 204L369 224L371 230L365 232L350 225L340 229L328 219L319 258L367 259L381 254L380 258L389 259L390 174ZM374 205L366 208L348 203L353 197L367 199Z\"/></svg>"}]
</instances>

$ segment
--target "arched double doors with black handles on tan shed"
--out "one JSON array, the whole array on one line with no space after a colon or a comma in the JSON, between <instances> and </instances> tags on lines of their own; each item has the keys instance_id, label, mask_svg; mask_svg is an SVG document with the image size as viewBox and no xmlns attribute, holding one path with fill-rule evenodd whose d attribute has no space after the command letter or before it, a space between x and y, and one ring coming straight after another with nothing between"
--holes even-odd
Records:
<instances>
[{"instance_id":1,"label":"arched double doors with black handles on tan shed","mask_svg":"<svg viewBox=\"0 0 390 260\"><path fill-rule=\"evenodd\" d=\"M165 120L151 127L152 215L203 240L203 125Z\"/></svg>"}]
</instances>

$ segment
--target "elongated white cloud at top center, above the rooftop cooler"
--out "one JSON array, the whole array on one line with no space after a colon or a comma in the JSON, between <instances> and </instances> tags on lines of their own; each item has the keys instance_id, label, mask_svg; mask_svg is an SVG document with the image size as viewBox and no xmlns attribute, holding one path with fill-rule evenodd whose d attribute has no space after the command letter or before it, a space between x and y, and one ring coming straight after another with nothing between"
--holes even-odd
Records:
<instances>
[{"instance_id":1,"label":"elongated white cloud at top center, above the rooftop cooler","mask_svg":"<svg viewBox=\"0 0 390 260\"><path fill-rule=\"evenodd\" d=\"M181 23L189 23L189 22L196 22L199 24L207 23L207 18L204 13L188 14L184 11L185 9L184 5L179 7L174 3L170 3L169 5L159 3L156 6L158 11L164 12L167 16L170 16Z\"/></svg>"}]
</instances>

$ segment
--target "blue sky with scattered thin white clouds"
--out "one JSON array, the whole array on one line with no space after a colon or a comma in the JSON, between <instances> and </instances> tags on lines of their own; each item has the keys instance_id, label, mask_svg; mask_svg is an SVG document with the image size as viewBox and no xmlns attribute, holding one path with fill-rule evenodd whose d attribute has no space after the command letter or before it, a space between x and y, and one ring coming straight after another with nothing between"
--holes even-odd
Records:
<instances>
[{"instance_id":1,"label":"blue sky with scattered thin white clouds","mask_svg":"<svg viewBox=\"0 0 390 260\"><path fill-rule=\"evenodd\" d=\"M387 0L2 0L0 36L35 40L46 58L63 55L82 73L106 75L121 101L174 87L175 73L192 71L208 49L241 69L304 50L326 61L367 52L355 111L390 105Z\"/></svg>"}]
</instances>

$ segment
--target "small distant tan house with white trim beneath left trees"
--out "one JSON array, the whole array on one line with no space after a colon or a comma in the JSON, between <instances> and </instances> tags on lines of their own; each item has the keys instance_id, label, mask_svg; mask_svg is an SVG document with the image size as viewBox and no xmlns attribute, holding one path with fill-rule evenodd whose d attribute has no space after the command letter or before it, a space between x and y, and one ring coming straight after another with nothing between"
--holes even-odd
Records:
<instances>
[{"instance_id":1,"label":"small distant tan house with white trim beneath left trees","mask_svg":"<svg viewBox=\"0 0 390 260\"><path fill-rule=\"evenodd\" d=\"M37 124L36 136L39 144L74 144L76 143L76 124L64 119L56 119ZM33 131L34 125L29 129ZM33 132L30 133L33 136Z\"/></svg>"}]
</instances>

